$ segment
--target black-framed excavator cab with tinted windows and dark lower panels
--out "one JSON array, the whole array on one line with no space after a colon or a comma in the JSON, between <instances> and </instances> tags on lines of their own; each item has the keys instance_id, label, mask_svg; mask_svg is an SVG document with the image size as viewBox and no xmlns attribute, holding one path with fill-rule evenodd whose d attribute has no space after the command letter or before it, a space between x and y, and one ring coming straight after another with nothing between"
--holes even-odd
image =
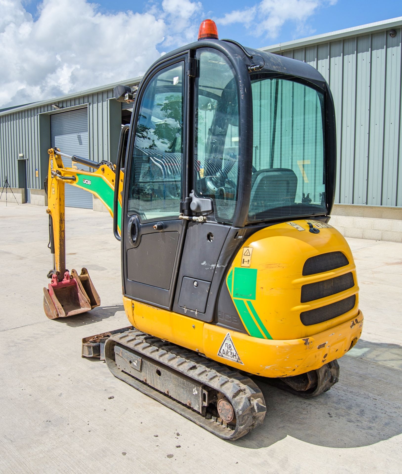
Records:
<instances>
[{"instance_id":1,"label":"black-framed excavator cab with tinted windows and dark lower panels","mask_svg":"<svg viewBox=\"0 0 402 474\"><path fill-rule=\"evenodd\" d=\"M124 294L247 333L225 284L228 265L258 229L325 225L335 162L331 93L308 64L217 39L162 57L132 115Z\"/></svg>"}]
</instances>

